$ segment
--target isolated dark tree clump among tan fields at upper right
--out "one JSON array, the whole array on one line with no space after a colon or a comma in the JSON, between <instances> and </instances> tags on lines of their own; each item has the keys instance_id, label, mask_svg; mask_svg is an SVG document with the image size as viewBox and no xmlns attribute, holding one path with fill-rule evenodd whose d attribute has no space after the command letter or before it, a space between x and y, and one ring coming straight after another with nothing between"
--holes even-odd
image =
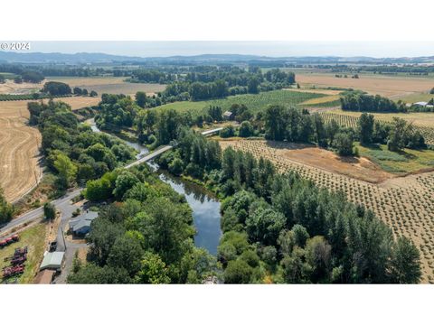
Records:
<instances>
[{"instance_id":1,"label":"isolated dark tree clump among tan fields at upper right","mask_svg":"<svg viewBox=\"0 0 434 325\"><path fill-rule=\"evenodd\" d=\"M371 96L358 92L350 92L341 97L341 107L343 110L357 112L407 112L407 107L401 101L395 103L391 99L383 98L380 95Z\"/></svg>"}]
</instances>

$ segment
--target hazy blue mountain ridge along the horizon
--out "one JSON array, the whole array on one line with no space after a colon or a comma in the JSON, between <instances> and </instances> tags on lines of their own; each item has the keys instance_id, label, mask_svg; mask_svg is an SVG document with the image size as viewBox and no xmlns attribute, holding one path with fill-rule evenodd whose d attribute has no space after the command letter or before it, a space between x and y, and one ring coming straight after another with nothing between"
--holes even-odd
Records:
<instances>
[{"instance_id":1,"label":"hazy blue mountain ridge along the horizon","mask_svg":"<svg viewBox=\"0 0 434 325\"><path fill-rule=\"evenodd\" d=\"M200 55L176 55L169 57L137 57L113 55L107 53L78 52L74 54L51 52L14 52L0 51L0 62L9 63L110 63L110 62L255 62L255 61L284 61L295 64L333 64L333 63L426 63L434 62L434 55L427 57L404 58L372 58L372 57L338 57L338 56L297 56L297 57L268 57L247 54L200 54Z\"/></svg>"}]
</instances>

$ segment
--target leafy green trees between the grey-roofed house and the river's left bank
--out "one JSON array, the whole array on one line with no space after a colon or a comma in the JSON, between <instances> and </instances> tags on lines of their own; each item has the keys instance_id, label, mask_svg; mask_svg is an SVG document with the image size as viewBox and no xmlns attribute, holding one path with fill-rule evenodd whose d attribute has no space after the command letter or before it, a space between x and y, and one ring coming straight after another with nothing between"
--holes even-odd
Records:
<instances>
[{"instance_id":1,"label":"leafy green trees between the grey-roofed house and the river's left bank","mask_svg":"<svg viewBox=\"0 0 434 325\"><path fill-rule=\"evenodd\" d=\"M203 283L217 273L215 257L193 245L183 196L147 166L109 174L112 188L100 190L117 202L92 221L89 262L75 262L69 283Z\"/></svg>"}]
</instances>

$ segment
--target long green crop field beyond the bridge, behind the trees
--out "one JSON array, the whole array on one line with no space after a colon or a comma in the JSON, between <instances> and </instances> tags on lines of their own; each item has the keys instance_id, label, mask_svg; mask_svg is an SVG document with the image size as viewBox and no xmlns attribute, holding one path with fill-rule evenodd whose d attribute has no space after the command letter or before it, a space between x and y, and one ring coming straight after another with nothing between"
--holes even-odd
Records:
<instances>
[{"instance_id":1,"label":"long green crop field beyond the bridge, behind the trees","mask_svg":"<svg viewBox=\"0 0 434 325\"><path fill-rule=\"evenodd\" d=\"M258 112L259 110L267 107L268 105L284 105L295 106L299 103L307 101L312 98L322 98L325 94L297 92L288 90L273 90L268 92L261 92L259 94L237 95L230 96L222 99L204 100L204 101L184 101L175 102L156 107L156 109L170 109L173 108L179 111L190 110L193 113L201 113L207 107L220 106L223 110L229 109L232 104L244 104L251 109L252 112Z\"/></svg>"}]
</instances>

